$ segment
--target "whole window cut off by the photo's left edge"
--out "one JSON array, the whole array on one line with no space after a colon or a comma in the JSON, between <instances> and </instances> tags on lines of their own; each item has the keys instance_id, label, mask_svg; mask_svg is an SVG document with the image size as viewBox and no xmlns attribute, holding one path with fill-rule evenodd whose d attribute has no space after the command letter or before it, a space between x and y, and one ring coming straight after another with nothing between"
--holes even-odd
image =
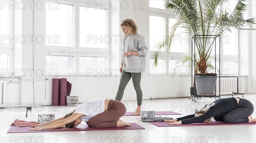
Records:
<instances>
[{"instance_id":1,"label":"whole window cut off by the photo's left edge","mask_svg":"<svg viewBox=\"0 0 256 143\"><path fill-rule=\"evenodd\" d=\"M1 1L0 8L0 73L7 73L12 70L13 42L16 40L13 35L13 0ZM12 39L12 40L11 40ZM16 41L17 42L17 41Z\"/></svg>"}]
</instances>

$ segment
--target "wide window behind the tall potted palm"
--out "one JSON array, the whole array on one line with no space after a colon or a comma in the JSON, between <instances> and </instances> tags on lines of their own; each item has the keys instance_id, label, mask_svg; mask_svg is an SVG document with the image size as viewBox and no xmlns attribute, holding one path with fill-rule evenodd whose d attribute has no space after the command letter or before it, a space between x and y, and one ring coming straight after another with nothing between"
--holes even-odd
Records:
<instances>
[{"instance_id":1,"label":"wide window behind the tall potted palm","mask_svg":"<svg viewBox=\"0 0 256 143\"><path fill-rule=\"evenodd\" d=\"M223 11L232 12L235 8L238 0L228 0L218 9ZM163 7L163 0L150 0L150 16L149 16L149 34L150 34L150 56L153 55L156 50L155 46L162 42L165 36L170 34L170 28L176 22L176 15L172 11L166 11ZM167 74L167 75L184 75L185 72L189 72L190 68L188 63L177 64L184 56L191 55L190 49L190 37L184 33L183 28L177 28L170 51L168 48L163 48L159 55L158 66L154 67L152 64L153 59L150 59L150 74ZM221 41L221 43L219 43ZM219 50L221 45L221 50ZM221 52L221 67L219 67L219 52ZM212 49L212 56L209 59L209 63L215 66L215 48ZM221 39L216 39L216 72L221 70L222 75L237 75L238 73L238 30L232 28L232 31L226 31L221 36ZM215 70L208 69L209 72ZM178 72L178 73L177 73ZM180 74L179 74L180 73ZM189 73L188 73L189 74Z\"/></svg>"}]
</instances>

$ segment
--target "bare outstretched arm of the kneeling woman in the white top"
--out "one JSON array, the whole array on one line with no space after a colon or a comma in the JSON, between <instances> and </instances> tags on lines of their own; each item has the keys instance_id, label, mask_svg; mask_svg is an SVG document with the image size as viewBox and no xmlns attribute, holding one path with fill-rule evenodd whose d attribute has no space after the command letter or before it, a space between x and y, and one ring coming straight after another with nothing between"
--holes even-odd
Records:
<instances>
[{"instance_id":1,"label":"bare outstretched arm of the kneeling woman in the white top","mask_svg":"<svg viewBox=\"0 0 256 143\"><path fill-rule=\"evenodd\" d=\"M45 125L45 126L32 128L32 129L29 129L29 130L56 129L56 128L62 127L64 125L68 124L68 123L71 123L73 121L76 121L76 119L80 118L82 115L83 114L74 113L70 117L65 118L63 120L56 121L54 123L51 123L51 124L48 124L48 125Z\"/></svg>"}]
</instances>

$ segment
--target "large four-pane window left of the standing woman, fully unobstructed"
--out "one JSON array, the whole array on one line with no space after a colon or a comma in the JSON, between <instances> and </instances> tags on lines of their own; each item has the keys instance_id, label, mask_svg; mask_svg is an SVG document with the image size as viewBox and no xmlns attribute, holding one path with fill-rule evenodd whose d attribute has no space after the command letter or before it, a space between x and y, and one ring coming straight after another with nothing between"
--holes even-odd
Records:
<instances>
[{"instance_id":1,"label":"large four-pane window left of the standing woman, fully unobstructed","mask_svg":"<svg viewBox=\"0 0 256 143\"><path fill-rule=\"evenodd\" d=\"M46 9L47 71L76 75L108 68L109 12L106 4L94 4L52 1Z\"/></svg>"}]
</instances>

